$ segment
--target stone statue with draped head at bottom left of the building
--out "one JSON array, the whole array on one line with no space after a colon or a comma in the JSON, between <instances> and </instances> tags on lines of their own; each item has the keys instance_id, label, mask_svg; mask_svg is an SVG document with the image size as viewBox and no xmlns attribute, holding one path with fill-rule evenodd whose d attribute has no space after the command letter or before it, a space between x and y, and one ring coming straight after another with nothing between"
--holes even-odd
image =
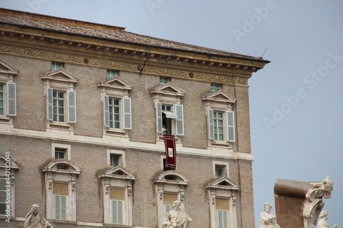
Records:
<instances>
[{"instance_id":1,"label":"stone statue with draped head at bottom left of the building","mask_svg":"<svg viewBox=\"0 0 343 228\"><path fill-rule=\"evenodd\" d=\"M37 204L32 205L27 213L24 222L24 228L52 228L52 225L43 217Z\"/></svg>"}]
</instances>

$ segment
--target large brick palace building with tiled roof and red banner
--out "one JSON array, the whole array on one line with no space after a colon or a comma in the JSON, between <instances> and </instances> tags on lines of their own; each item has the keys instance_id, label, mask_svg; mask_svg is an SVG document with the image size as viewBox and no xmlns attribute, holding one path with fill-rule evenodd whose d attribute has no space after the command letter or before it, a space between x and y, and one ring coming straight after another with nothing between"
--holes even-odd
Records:
<instances>
[{"instance_id":1,"label":"large brick palace building with tiled roof and red banner","mask_svg":"<svg viewBox=\"0 0 343 228\"><path fill-rule=\"evenodd\" d=\"M269 61L0 9L0 227L255 227L248 79ZM10 220L10 223L8 221Z\"/></svg>"}]
</instances>

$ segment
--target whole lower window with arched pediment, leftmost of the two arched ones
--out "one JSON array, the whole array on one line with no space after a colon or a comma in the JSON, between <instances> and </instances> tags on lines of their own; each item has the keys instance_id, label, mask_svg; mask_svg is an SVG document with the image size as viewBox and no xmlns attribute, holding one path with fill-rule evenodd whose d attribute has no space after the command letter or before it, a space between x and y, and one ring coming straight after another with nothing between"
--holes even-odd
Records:
<instances>
[{"instance_id":1,"label":"whole lower window with arched pediment, leftmost of the two arched ones","mask_svg":"<svg viewBox=\"0 0 343 228\"><path fill-rule=\"evenodd\" d=\"M80 173L78 166L65 159L44 166L47 219L76 220L76 179Z\"/></svg>"}]
</instances>

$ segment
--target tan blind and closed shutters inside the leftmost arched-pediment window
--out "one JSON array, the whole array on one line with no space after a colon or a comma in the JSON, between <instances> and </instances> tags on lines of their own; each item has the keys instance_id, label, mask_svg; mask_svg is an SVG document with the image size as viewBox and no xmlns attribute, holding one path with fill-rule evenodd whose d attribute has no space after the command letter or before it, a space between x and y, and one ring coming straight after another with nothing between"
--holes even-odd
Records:
<instances>
[{"instance_id":1,"label":"tan blind and closed shutters inside the leftmost arched-pediment window","mask_svg":"<svg viewBox=\"0 0 343 228\"><path fill-rule=\"evenodd\" d=\"M68 183L53 183L53 196L55 205L55 219L67 220L67 205L69 196Z\"/></svg>"}]
</instances>

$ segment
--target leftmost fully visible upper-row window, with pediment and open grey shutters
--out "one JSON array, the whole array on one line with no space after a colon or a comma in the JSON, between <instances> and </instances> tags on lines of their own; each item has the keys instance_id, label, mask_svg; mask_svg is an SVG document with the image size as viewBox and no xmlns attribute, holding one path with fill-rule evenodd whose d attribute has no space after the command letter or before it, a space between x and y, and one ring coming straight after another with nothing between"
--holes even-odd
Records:
<instances>
[{"instance_id":1,"label":"leftmost fully visible upper-row window, with pediment and open grey shutters","mask_svg":"<svg viewBox=\"0 0 343 228\"><path fill-rule=\"evenodd\" d=\"M47 126L58 125L72 130L70 123L76 123L76 92L74 84L78 81L64 68L45 73L44 80L47 97Z\"/></svg>"}]
</instances>

